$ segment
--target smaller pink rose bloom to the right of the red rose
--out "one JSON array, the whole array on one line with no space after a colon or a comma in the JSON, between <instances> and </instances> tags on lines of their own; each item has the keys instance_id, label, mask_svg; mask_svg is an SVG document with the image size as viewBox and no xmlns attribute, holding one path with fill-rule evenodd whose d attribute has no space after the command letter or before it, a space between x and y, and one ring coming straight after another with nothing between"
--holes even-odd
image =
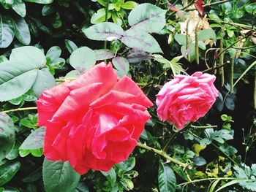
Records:
<instances>
[{"instance_id":1,"label":"smaller pink rose bloom to the right of the red rose","mask_svg":"<svg viewBox=\"0 0 256 192\"><path fill-rule=\"evenodd\" d=\"M175 75L157 94L157 115L180 129L188 121L195 122L206 115L218 96L215 79L202 72Z\"/></svg>"}]
</instances>

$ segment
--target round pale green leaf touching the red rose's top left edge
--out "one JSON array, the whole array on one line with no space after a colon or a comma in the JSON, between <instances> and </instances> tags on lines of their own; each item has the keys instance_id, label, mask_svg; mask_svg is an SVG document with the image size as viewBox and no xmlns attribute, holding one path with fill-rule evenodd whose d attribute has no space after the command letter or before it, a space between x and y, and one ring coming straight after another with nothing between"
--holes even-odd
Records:
<instances>
[{"instance_id":1,"label":"round pale green leaf touching the red rose's top left edge","mask_svg":"<svg viewBox=\"0 0 256 192\"><path fill-rule=\"evenodd\" d=\"M70 55L69 63L82 73L94 66L96 55L89 47L80 47Z\"/></svg>"}]
</instances>

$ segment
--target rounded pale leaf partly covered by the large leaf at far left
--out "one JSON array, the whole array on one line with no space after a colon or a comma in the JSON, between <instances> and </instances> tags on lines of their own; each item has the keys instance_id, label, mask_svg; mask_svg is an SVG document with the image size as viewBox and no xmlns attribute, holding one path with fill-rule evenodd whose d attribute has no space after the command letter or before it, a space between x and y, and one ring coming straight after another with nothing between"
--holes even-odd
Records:
<instances>
[{"instance_id":1,"label":"rounded pale leaf partly covered by the large leaf at far left","mask_svg":"<svg viewBox=\"0 0 256 192\"><path fill-rule=\"evenodd\" d=\"M23 46L12 50L10 61L22 64L30 64L42 68L46 64L46 58L42 50L33 46Z\"/></svg>"}]
</instances>

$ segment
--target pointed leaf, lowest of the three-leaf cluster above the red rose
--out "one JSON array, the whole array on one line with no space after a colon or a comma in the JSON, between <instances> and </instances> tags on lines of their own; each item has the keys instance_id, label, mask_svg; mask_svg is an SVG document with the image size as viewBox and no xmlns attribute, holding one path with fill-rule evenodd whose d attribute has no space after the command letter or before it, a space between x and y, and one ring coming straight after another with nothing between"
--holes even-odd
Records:
<instances>
[{"instance_id":1,"label":"pointed leaf, lowest of the three-leaf cluster above the red rose","mask_svg":"<svg viewBox=\"0 0 256 192\"><path fill-rule=\"evenodd\" d=\"M148 53L162 53L157 40L143 31L129 29L125 31L124 37L121 38L121 42L136 50L143 50Z\"/></svg>"}]
</instances>

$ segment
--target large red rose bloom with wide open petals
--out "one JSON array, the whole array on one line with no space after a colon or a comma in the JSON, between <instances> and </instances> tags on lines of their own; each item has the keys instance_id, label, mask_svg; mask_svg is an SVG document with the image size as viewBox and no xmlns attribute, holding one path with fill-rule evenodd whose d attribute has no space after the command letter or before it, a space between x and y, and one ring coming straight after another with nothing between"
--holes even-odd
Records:
<instances>
[{"instance_id":1,"label":"large red rose bloom with wide open petals","mask_svg":"<svg viewBox=\"0 0 256 192\"><path fill-rule=\"evenodd\" d=\"M80 174L89 169L107 172L132 153L151 118L146 107L152 105L129 77L118 80L111 64L97 64L39 97L45 157L69 161Z\"/></svg>"}]
</instances>

